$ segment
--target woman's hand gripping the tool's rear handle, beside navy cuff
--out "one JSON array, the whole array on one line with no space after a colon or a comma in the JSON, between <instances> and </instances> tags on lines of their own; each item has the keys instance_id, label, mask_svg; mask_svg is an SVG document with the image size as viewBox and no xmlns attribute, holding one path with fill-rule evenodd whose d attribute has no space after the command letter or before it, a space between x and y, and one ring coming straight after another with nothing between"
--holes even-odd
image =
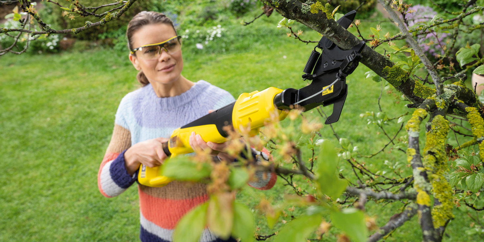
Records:
<instances>
[{"instance_id":1,"label":"woman's hand gripping the tool's rear handle, beside navy cuff","mask_svg":"<svg viewBox=\"0 0 484 242\"><path fill-rule=\"evenodd\" d=\"M148 167L160 166L166 159L162 143L167 138L154 138L136 143L124 152L124 165L130 175L133 175L141 164Z\"/></svg>"}]
</instances>

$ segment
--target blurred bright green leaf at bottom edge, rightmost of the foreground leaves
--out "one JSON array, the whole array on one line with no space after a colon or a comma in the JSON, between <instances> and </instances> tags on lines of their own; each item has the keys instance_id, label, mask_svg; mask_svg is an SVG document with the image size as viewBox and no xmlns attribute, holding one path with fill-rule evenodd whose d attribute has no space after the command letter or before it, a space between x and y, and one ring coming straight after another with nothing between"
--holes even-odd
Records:
<instances>
[{"instance_id":1,"label":"blurred bright green leaf at bottom edge, rightmost of the foreground leaves","mask_svg":"<svg viewBox=\"0 0 484 242\"><path fill-rule=\"evenodd\" d=\"M341 212L333 211L331 212L331 222L345 232L352 241L366 242L368 239L364 214L360 210L349 208Z\"/></svg>"}]
</instances>

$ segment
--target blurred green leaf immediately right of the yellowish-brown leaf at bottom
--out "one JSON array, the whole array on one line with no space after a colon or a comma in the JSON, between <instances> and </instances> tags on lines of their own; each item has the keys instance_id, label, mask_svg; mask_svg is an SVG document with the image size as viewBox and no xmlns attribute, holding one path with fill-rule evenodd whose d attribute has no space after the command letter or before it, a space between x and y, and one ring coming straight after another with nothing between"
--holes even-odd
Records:
<instances>
[{"instance_id":1,"label":"blurred green leaf immediately right of the yellowish-brown leaf at bottom","mask_svg":"<svg viewBox=\"0 0 484 242\"><path fill-rule=\"evenodd\" d=\"M241 238L241 241L243 242L253 242L255 228L254 216L249 208L242 203L234 203L234 225L232 227L232 234Z\"/></svg>"}]
</instances>

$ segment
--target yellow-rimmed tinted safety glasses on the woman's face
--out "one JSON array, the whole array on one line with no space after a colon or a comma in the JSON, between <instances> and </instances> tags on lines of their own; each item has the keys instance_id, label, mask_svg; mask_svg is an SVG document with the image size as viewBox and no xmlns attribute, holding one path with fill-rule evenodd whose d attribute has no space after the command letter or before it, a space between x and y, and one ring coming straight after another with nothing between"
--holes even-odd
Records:
<instances>
[{"instance_id":1,"label":"yellow-rimmed tinted safety glasses on the woman's face","mask_svg":"<svg viewBox=\"0 0 484 242\"><path fill-rule=\"evenodd\" d=\"M161 43L139 46L131 50L131 54L135 54L145 60L154 60L160 58L161 51L165 50L168 54L173 54L181 49L181 36L175 36L163 41Z\"/></svg>"}]
</instances>

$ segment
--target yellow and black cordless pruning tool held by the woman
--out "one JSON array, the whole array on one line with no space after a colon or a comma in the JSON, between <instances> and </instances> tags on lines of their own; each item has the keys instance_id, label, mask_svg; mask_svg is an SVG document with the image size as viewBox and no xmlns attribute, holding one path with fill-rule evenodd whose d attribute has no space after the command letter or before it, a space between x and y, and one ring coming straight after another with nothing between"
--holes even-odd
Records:
<instances>
[{"instance_id":1,"label":"yellow and black cordless pruning tool held by the woman","mask_svg":"<svg viewBox=\"0 0 484 242\"><path fill-rule=\"evenodd\" d=\"M356 11L353 10L337 22L347 29L355 15ZM171 158L193 152L188 143L192 132L200 135L205 142L223 143L227 141L228 134L223 129L227 125L240 131L250 123L250 135L255 136L264 126L264 122L271 120L271 115L278 115L281 121L287 115L283 110L295 106L308 111L320 105L333 104L333 113L325 123L338 121L348 93L346 76L358 66L363 46L364 42L361 42L349 50L342 50L326 37L322 37L304 67L305 74L302 78L312 80L310 85L299 90L270 87L263 91L242 93L235 102L176 129L163 144L163 150ZM316 48L322 52L319 53ZM166 185L172 180L161 175L162 169L163 166L150 168L141 165L138 182L151 187Z\"/></svg>"}]
</instances>

